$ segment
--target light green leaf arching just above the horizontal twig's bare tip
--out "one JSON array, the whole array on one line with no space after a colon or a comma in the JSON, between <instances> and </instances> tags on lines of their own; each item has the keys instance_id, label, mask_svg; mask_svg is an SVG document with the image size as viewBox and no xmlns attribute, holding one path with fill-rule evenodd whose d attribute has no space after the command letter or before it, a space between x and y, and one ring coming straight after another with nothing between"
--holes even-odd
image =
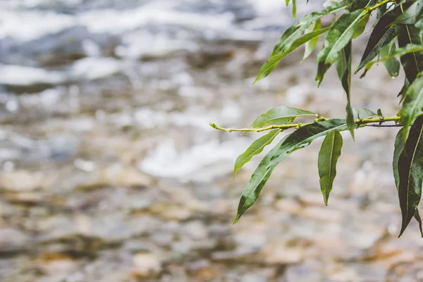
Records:
<instances>
[{"instance_id":1,"label":"light green leaf arching just above the horizontal twig's bare tip","mask_svg":"<svg viewBox=\"0 0 423 282\"><path fill-rule=\"evenodd\" d=\"M254 123L250 125L250 128L262 128L266 125L283 125L292 123L296 117L300 116L316 116L316 114L311 111L305 111L290 106L277 106L276 108L267 111L266 114L260 115Z\"/></svg>"}]
</instances>

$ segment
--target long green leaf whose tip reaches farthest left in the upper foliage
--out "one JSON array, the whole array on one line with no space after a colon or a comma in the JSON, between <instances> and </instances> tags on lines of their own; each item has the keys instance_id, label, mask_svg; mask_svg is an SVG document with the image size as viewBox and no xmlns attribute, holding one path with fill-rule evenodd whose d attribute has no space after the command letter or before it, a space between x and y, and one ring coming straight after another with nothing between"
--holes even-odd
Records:
<instances>
[{"instance_id":1,"label":"long green leaf whose tip reaches farthest left in the upper foliage","mask_svg":"<svg viewBox=\"0 0 423 282\"><path fill-rule=\"evenodd\" d=\"M319 35L322 35L324 32L327 32L329 28L330 27L321 28L320 30L314 30L305 35L302 35L298 37L297 39L295 39L294 42L290 44L290 47L286 49L285 51L283 51L281 54L270 56L270 58L266 61L266 63L264 63L262 68L260 68L259 74L257 75L255 82L257 82L258 80L261 80L262 78L266 78L266 76L269 75L269 73L271 73L271 71L273 71L274 68L276 68L279 61L281 61L281 59L283 59L286 55L290 54L290 52L294 51L295 49L302 46L303 44L309 42L309 40L319 37Z\"/></svg>"}]
</instances>

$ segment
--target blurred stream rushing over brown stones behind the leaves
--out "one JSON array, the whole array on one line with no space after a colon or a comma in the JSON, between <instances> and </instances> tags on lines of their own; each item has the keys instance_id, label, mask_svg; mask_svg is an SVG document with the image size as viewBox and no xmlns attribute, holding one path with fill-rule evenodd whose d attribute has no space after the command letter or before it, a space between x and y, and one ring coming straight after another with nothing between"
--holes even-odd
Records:
<instances>
[{"instance_id":1,"label":"blurred stream rushing over brown stones behind the leaves","mask_svg":"<svg viewBox=\"0 0 423 282\"><path fill-rule=\"evenodd\" d=\"M259 134L209 122L245 127L274 106L345 116L335 70L317 88L302 49L252 86L290 13L283 0L1 0L0 281L423 281L415 222L396 238L396 128L344 135L329 207L317 140L231 226L260 158L232 181L233 164ZM353 106L395 115L402 84L372 68Z\"/></svg>"}]
</instances>

